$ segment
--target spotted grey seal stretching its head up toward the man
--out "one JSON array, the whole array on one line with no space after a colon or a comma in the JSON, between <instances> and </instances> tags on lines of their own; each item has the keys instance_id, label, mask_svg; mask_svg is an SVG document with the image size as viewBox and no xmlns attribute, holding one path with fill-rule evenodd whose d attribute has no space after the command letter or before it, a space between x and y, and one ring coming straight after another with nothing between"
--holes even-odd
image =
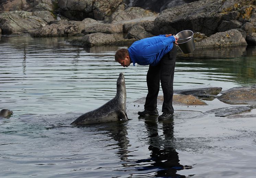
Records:
<instances>
[{"instance_id":1,"label":"spotted grey seal stretching its head up toward the man","mask_svg":"<svg viewBox=\"0 0 256 178\"><path fill-rule=\"evenodd\" d=\"M98 109L78 117L71 124L82 125L89 123L113 122L122 119L127 121L126 114L126 88L124 74L120 73L116 82L116 96Z\"/></svg>"}]
</instances>

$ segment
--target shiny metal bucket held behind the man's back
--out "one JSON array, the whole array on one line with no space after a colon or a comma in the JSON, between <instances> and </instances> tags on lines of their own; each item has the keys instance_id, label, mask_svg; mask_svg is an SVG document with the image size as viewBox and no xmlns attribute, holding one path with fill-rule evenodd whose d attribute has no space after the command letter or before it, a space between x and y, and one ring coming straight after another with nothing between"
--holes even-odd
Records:
<instances>
[{"instance_id":1,"label":"shiny metal bucket held behind the man's back","mask_svg":"<svg viewBox=\"0 0 256 178\"><path fill-rule=\"evenodd\" d=\"M195 50L194 33L191 30L181 31L177 33L175 37L178 38L178 47L184 54Z\"/></svg>"}]
</instances>

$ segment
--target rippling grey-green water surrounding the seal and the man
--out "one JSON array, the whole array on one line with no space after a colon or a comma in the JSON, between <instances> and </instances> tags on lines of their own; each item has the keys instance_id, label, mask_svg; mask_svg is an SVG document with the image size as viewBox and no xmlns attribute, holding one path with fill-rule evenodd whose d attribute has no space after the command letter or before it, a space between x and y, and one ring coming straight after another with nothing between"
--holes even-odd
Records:
<instances>
[{"instance_id":1,"label":"rippling grey-green water surrounding the seal and the man","mask_svg":"<svg viewBox=\"0 0 256 178\"><path fill-rule=\"evenodd\" d=\"M1 36L0 108L13 111L0 118L1 177L255 177L255 118L203 115L229 106L218 99L174 106L170 121L140 118L148 67L119 66L117 46L66 40ZM254 85L255 57L255 47L179 53L174 88ZM120 72L131 120L70 126L115 96Z\"/></svg>"}]
</instances>

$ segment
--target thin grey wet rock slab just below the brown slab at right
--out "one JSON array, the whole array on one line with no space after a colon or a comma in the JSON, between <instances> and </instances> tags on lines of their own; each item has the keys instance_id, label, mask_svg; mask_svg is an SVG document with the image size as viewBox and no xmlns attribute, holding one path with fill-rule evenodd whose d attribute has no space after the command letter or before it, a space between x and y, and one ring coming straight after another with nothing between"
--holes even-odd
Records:
<instances>
[{"instance_id":1,"label":"thin grey wet rock slab just below the brown slab at right","mask_svg":"<svg viewBox=\"0 0 256 178\"><path fill-rule=\"evenodd\" d=\"M227 117L230 115L241 114L244 112L250 112L252 109L255 109L256 106L230 106L224 108L217 108L206 111L205 114L214 114L218 117Z\"/></svg>"}]
</instances>

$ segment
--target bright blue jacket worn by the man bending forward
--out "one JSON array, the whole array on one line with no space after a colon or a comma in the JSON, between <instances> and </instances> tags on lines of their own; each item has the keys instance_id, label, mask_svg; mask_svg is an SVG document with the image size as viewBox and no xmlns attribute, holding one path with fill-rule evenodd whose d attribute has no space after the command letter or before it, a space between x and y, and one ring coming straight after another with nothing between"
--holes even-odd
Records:
<instances>
[{"instance_id":1,"label":"bright blue jacket worn by the man bending forward","mask_svg":"<svg viewBox=\"0 0 256 178\"><path fill-rule=\"evenodd\" d=\"M128 48L133 66L135 63L156 66L162 57L173 48L174 42L174 36L165 37L165 35L135 41Z\"/></svg>"}]
</instances>

